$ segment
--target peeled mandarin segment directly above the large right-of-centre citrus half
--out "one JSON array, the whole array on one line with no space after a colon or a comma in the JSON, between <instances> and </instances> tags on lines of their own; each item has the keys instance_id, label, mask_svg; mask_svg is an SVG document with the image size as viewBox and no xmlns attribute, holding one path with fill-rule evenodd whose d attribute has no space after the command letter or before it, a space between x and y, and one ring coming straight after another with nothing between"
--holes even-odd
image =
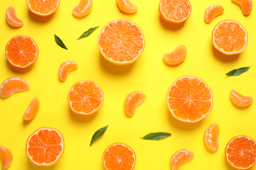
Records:
<instances>
[{"instance_id":1,"label":"peeled mandarin segment directly above the large right-of-centre citrus half","mask_svg":"<svg viewBox=\"0 0 256 170\"><path fill-rule=\"evenodd\" d=\"M186 46L179 45L172 52L163 54L163 61L168 65L178 65L182 63L186 57Z\"/></svg>"}]
</instances>

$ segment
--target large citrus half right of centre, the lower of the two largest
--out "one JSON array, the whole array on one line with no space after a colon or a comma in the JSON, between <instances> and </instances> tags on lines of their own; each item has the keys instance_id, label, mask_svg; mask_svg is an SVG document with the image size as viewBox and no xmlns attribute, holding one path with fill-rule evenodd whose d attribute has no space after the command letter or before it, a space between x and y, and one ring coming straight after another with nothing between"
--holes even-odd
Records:
<instances>
[{"instance_id":1,"label":"large citrus half right of centre, the lower of the two largest","mask_svg":"<svg viewBox=\"0 0 256 170\"><path fill-rule=\"evenodd\" d=\"M213 93L201 78L181 76L167 92L167 105L175 118L182 122L198 122L213 107Z\"/></svg>"}]
</instances>

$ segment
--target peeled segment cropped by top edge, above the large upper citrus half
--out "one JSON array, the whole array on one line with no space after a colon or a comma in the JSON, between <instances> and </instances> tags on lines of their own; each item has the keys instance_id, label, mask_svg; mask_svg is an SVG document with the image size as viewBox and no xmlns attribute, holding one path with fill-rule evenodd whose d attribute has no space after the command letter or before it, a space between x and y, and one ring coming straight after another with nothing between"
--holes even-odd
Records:
<instances>
[{"instance_id":1,"label":"peeled segment cropped by top edge, above the large upper citrus half","mask_svg":"<svg viewBox=\"0 0 256 170\"><path fill-rule=\"evenodd\" d=\"M134 14L138 10L138 7L129 0L116 0L116 3L119 9L127 14Z\"/></svg>"}]
</instances>

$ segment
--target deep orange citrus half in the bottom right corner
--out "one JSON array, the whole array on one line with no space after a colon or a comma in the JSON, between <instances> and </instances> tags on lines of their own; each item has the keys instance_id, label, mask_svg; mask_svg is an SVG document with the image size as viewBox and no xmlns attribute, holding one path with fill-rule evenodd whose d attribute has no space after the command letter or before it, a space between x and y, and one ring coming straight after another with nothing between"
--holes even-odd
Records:
<instances>
[{"instance_id":1,"label":"deep orange citrus half in the bottom right corner","mask_svg":"<svg viewBox=\"0 0 256 170\"><path fill-rule=\"evenodd\" d=\"M256 142L244 135L233 137L225 148L226 160L236 169L249 169L256 163Z\"/></svg>"}]
</instances>

